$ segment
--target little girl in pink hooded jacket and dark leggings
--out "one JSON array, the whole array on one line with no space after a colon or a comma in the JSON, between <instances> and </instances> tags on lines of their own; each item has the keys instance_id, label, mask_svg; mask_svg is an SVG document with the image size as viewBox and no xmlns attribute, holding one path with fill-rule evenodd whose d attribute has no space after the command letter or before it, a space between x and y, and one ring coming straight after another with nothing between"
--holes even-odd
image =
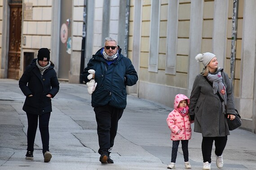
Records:
<instances>
[{"instance_id":1,"label":"little girl in pink hooded jacket and dark leggings","mask_svg":"<svg viewBox=\"0 0 256 170\"><path fill-rule=\"evenodd\" d=\"M166 122L171 130L172 161L168 169L175 169L178 146L181 140L185 168L190 169L188 143L191 139L191 124L189 113L190 99L184 94L177 94L174 99L174 110L169 113Z\"/></svg>"}]
</instances>

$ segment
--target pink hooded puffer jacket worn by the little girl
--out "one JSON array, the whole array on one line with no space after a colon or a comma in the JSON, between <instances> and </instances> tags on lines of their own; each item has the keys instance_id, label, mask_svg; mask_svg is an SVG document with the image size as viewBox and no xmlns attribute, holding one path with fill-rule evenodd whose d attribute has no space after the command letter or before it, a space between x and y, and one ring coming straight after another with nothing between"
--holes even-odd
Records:
<instances>
[{"instance_id":1,"label":"pink hooded puffer jacket worn by the little girl","mask_svg":"<svg viewBox=\"0 0 256 170\"><path fill-rule=\"evenodd\" d=\"M188 97L184 94L177 94L174 99L174 110L169 113L166 122L171 130L171 140L190 140L191 139L191 124L189 115L182 116L177 107L182 100L187 100L187 104L190 103ZM181 130L179 133L177 133Z\"/></svg>"}]
</instances>

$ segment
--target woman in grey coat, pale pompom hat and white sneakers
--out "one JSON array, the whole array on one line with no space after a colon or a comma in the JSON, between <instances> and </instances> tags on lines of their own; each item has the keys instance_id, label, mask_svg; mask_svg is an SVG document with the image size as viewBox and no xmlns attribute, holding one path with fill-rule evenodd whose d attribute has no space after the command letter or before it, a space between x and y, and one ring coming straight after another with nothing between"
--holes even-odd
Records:
<instances>
[{"instance_id":1,"label":"woman in grey coat, pale pompom hat and white sneakers","mask_svg":"<svg viewBox=\"0 0 256 170\"><path fill-rule=\"evenodd\" d=\"M202 62L204 68L194 80L189 115L194 120L194 132L203 136L203 170L211 170L213 141L216 166L222 168L222 153L230 135L227 119L235 118L233 87L228 74L218 67L216 55L206 52L195 59Z\"/></svg>"}]
</instances>

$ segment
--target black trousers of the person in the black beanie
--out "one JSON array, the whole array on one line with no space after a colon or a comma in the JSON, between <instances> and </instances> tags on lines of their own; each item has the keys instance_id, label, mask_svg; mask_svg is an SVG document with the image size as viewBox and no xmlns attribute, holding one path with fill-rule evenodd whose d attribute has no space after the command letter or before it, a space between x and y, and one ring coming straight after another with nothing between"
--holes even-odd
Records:
<instances>
[{"instance_id":1,"label":"black trousers of the person in the black beanie","mask_svg":"<svg viewBox=\"0 0 256 170\"><path fill-rule=\"evenodd\" d=\"M27 151L34 151L35 134L39 118L39 130L43 144L43 153L49 151L49 120L51 112L43 115L35 115L26 113L28 128L27 128Z\"/></svg>"}]
</instances>

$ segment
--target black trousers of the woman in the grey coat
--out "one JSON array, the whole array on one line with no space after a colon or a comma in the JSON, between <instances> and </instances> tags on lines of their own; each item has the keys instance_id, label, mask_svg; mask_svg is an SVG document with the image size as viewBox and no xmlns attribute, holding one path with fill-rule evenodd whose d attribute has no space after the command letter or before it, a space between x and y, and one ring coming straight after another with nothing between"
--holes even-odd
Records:
<instances>
[{"instance_id":1,"label":"black trousers of the woman in the grey coat","mask_svg":"<svg viewBox=\"0 0 256 170\"><path fill-rule=\"evenodd\" d=\"M203 153L203 162L211 163L212 155L212 144L213 140L215 141L215 154L221 156L225 146L227 144L228 136L223 137L203 137L202 140L202 153Z\"/></svg>"}]
</instances>

